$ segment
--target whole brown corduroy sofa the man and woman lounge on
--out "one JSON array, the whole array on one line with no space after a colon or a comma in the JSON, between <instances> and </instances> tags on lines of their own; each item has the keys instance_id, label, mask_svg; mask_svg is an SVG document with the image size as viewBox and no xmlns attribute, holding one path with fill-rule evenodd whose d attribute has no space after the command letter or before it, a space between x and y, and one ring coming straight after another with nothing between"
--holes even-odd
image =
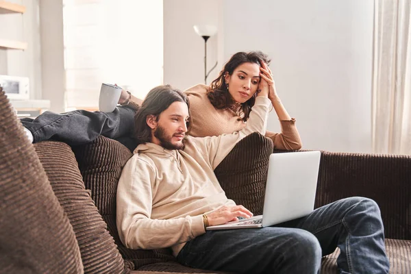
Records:
<instances>
[{"instance_id":1,"label":"whole brown corduroy sofa the man and woman lounge on","mask_svg":"<svg viewBox=\"0 0 411 274\"><path fill-rule=\"evenodd\" d=\"M3 100L3 98L0 99ZM178 264L169 249L131 250L121 244L115 223L116 186L121 169L132 156L126 147L103 136L87 145L77 147L69 147L57 141L29 145L28 141L21 137L24 134L16 117L8 111L3 114L5 103L1 100L1 125L5 123L4 121L10 120L10 124L15 124L16 131L20 131L18 132L20 137L17 140L13 139L10 135L10 127L4 127L4 129L2 127L3 130L8 130L8 134L1 134L0 141L4 147L1 147L0 155L7 156L9 159L10 155L16 154L16 151L30 152L28 154L21 152L20 160L13 162L15 172L5 172L4 169L10 169L10 165L2 166L4 169L0 171L1 178L7 179L0 184L1 199L8 201L3 203L1 208L1 228L4 224L5 213L16 214L14 212L18 212L21 216L37 214L38 218L42 218L40 213L44 210L36 213L38 206L16 203L16 201L25 199L25 192L23 194L18 192L23 187L16 189L16 182L19 182L16 179L22 177L24 173L27 174L27 170L30 171L30 169L32 169L31 172L45 172L47 177L41 177L42 188L30 190L31 196L27 198L30 201L33 199L42 201L45 199L44 188L47 188L45 184L49 184L51 189L47 189L47 197L53 203L45 200L49 205L48 210L50 211L51 208L52 212L60 212L60 215L64 212L64 216L58 215L63 221L55 222L45 217L41 219L44 221L40 224L53 228L54 223L62 224L63 222L66 225L64 232L67 236L65 237L70 240L66 241L62 238L63 236L59 236L60 238L57 239L60 240L53 240L55 237L50 237L53 241L47 242L45 236L47 233L42 233L41 240L39 238L35 241L39 247L34 250L43 250L45 248L41 247L47 245L49 247L61 245L61 249L65 251L60 251L58 254L71 256L71 259L62 259L51 264L51 257L48 258L48 264L54 269L52 272L44 272L44 268L42 268L43 272L27 271L30 270L29 266L16 269L17 262L20 264L17 259L12 261L16 262L15 264L5 264L0 260L0 273L6 273L2 266L7 266L7 273L83 273L83 271L84 273L216 273ZM10 145L5 145L10 142L14 142L11 151ZM33 147L36 153L34 150L31 151ZM227 197L249 208L254 214L262 213L266 170L272 151L271 140L257 133L251 134L241 140L215 170ZM30 155L31 158L22 159L22 155ZM23 160L26 160L26 166L29 169L18 164ZM10 159L8 161L10 162ZM30 162L36 162L38 165L29 164ZM29 180L27 176L25 179ZM32 176L32 179L36 182L39 180L38 176ZM25 184L24 180L21 182L23 186L34 184L33 182ZM20 194L14 195L12 191ZM390 273L410 273L411 157L322 151L315 206L323 206L337 199L351 196L369 197L379 204L385 225L386 249L391 264ZM49 211L47 214L50 215ZM32 219L36 216L32 216ZM9 227L12 229L13 225ZM33 226L21 227L15 233L17 236L9 234L8 237L0 238L0 245L4 242L13 242L13 238L10 240L10 237L21 236L28 233L30 229L34 229L35 233L32 231L32 234L27 234L27 238L36 237L39 231L46 232L44 227L41 228L42 230L36 230ZM63 235L62 230L60 229L60 233L55 235ZM74 236L77 241L76 247L73 247ZM29 240L25 240L24 243L27 247L22 244L23 247L16 249L16 254L32 252L29 251L29 248L32 248ZM27 249L27 251L22 252L21 249ZM69 253L68 250L72 252ZM5 258L1 252L0 250L0 258ZM52 252L49 251L48 254L51 255L50 253ZM78 256L77 253L79 253ZM322 273L336 273L337 254L338 250L323 258ZM13 258L18 258L18 255ZM39 253L38 258L34 260L37 265L42 265L40 258L42 257ZM64 265L64 263L73 264L73 266ZM82 271L79 271L79 268Z\"/></svg>"}]
</instances>

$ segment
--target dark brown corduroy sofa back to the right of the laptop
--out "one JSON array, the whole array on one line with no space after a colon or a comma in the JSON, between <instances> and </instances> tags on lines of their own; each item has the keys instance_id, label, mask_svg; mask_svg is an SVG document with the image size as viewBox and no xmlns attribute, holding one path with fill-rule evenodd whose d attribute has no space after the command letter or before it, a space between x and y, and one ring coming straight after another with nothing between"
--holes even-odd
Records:
<instances>
[{"instance_id":1,"label":"dark brown corduroy sofa back to the right of the laptop","mask_svg":"<svg viewBox=\"0 0 411 274\"><path fill-rule=\"evenodd\" d=\"M386 238L411 240L411 156L321 151L316 208L345 197L375 200Z\"/></svg>"}]
</instances>

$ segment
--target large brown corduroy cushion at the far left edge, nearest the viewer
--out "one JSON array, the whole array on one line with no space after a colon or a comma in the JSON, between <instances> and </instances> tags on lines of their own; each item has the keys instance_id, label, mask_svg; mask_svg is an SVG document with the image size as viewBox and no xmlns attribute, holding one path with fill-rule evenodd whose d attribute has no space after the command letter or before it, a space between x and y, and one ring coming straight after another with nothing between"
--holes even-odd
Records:
<instances>
[{"instance_id":1,"label":"large brown corduroy cushion at the far left edge, nearest the viewer","mask_svg":"<svg viewBox=\"0 0 411 274\"><path fill-rule=\"evenodd\" d=\"M0 273L83 273L69 219L0 88Z\"/></svg>"}]
</instances>

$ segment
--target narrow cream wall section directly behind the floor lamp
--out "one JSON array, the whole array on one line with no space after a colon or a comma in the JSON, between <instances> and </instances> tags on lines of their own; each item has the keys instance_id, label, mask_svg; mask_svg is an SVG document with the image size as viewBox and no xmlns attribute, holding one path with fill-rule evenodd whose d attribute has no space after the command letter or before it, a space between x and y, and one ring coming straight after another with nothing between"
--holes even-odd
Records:
<instances>
[{"instance_id":1,"label":"narrow cream wall section directly behind the floor lamp","mask_svg":"<svg viewBox=\"0 0 411 274\"><path fill-rule=\"evenodd\" d=\"M218 0L163 1L164 8L164 84L186 89L204 83L204 40L193 25L218 25ZM207 41L207 69L217 60L219 34ZM221 69L218 64L210 73L207 83Z\"/></svg>"}]
</instances>

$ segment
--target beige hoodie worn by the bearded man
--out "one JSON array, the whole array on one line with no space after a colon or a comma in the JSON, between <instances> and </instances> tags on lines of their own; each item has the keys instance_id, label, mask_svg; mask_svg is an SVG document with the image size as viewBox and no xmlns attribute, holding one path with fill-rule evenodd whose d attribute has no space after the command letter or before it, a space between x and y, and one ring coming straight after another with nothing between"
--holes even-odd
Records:
<instances>
[{"instance_id":1,"label":"beige hoodie worn by the bearded man","mask_svg":"<svg viewBox=\"0 0 411 274\"><path fill-rule=\"evenodd\" d=\"M167 150L148 142L139 145L125 164L117 188L116 224L130 249L172 247L205 233L202 214L227 199L214 169L245 136L265 134L270 100L257 97L247 125L233 134L188 136L184 150Z\"/></svg>"}]
</instances>

